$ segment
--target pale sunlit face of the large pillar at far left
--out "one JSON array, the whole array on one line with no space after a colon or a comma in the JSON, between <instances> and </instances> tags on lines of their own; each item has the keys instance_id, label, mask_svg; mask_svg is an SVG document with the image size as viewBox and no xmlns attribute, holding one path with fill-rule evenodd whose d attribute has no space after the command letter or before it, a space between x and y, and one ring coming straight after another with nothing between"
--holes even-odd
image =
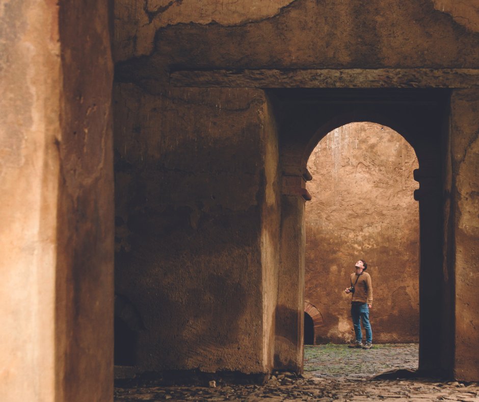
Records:
<instances>
[{"instance_id":1,"label":"pale sunlit face of the large pillar at far left","mask_svg":"<svg viewBox=\"0 0 479 402\"><path fill-rule=\"evenodd\" d=\"M2 3L1 400L54 400L55 395L57 20L55 2Z\"/></svg>"}]
</instances>

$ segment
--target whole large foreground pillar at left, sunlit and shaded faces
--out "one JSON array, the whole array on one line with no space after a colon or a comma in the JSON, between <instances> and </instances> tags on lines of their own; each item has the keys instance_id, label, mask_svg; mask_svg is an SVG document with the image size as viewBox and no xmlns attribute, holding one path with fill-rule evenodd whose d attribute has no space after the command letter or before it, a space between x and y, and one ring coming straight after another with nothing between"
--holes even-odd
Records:
<instances>
[{"instance_id":1,"label":"whole large foreground pillar at left, sunlit and shaded faces","mask_svg":"<svg viewBox=\"0 0 479 402\"><path fill-rule=\"evenodd\" d=\"M0 400L113 398L108 8L0 13ZM79 17L80 16L80 17Z\"/></svg>"}]
</instances>

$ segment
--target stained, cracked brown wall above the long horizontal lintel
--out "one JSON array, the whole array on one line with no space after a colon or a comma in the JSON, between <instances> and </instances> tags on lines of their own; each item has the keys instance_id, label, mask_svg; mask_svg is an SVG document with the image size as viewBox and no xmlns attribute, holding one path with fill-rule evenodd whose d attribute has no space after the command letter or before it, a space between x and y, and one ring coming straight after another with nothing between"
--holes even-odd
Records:
<instances>
[{"instance_id":1,"label":"stained, cracked brown wall above the long horizontal lintel","mask_svg":"<svg viewBox=\"0 0 479 402\"><path fill-rule=\"evenodd\" d=\"M156 8L149 22L144 11L126 12L130 2L117 0L118 78L167 80L168 71L188 68L466 68L479 60L477 12L468 13L466 27L463 10L439 11L441 2L296 0L258 11L253 3L242 3L250 10L246 21L236 12L224 17L228 2L203 2L205 12L221 8L223 18L207 23L206 14L173 4Z\"/></svg>"}]
</instances>

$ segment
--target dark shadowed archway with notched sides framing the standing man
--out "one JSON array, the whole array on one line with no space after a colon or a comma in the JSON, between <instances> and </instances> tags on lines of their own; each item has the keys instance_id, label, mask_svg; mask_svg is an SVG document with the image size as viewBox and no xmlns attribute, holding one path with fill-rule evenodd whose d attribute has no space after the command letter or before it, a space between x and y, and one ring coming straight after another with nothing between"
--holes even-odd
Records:
<instances>
[{"instance_id":1,"label":"dark shadowed archway with notched sides framing the standing man","mask_svg":"<svg viewBox=\"0 0 479 402\"><path fill-rule=\"evenodd\" d=\"M448 299L453 286L447 274L437 272L437 267L443 265L442 165L448 133L448 92L270 90L268 94L277 118L283 175L281 208L282 216L287 217L281 222L284 241L280 270L282 277L291 277L288 284L298 284L300 294L300 283L304 281L304 203L309 197L305 183L311 178L306 161L315 144L346 123L374 121L401 133L414 148L419 162L419 169L414 172L414 179L419 182L414 198L419 202L420 216L419 368L447 372L452 365L447 345L453 342L449 328L454 312L449 306L443 310L444 314L439 314L435 305L437 300L443 303ZM291 293L290 288L284 291ZM297 321L299 330L302 320L301 312ZM302 348L301 342L295 347ZM289 360L292 355L298 354L292 350L284 354Z\"/></svg>"}]
</instances>

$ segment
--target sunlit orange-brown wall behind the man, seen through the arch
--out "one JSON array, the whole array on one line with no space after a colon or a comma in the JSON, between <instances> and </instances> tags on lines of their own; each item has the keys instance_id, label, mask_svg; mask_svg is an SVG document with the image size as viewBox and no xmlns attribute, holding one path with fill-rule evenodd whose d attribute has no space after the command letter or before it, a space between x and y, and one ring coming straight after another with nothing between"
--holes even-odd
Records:
<instances>
[{"instance_id":1,"label":"sunlit orange-brown wall behind the man, seen through the arch","mask_svg":"<svg viewBox=\"0 0 479 402\"><path fill-rule=\"evenodd\" d=\"M324 318L316 329L318 343L352 339L351 297L344 289L361 258L374 285L374 341L418 341L417 167L406 140L374 123L344 125L311 154L305 299Z\"/></svg>"}]
</instances>

